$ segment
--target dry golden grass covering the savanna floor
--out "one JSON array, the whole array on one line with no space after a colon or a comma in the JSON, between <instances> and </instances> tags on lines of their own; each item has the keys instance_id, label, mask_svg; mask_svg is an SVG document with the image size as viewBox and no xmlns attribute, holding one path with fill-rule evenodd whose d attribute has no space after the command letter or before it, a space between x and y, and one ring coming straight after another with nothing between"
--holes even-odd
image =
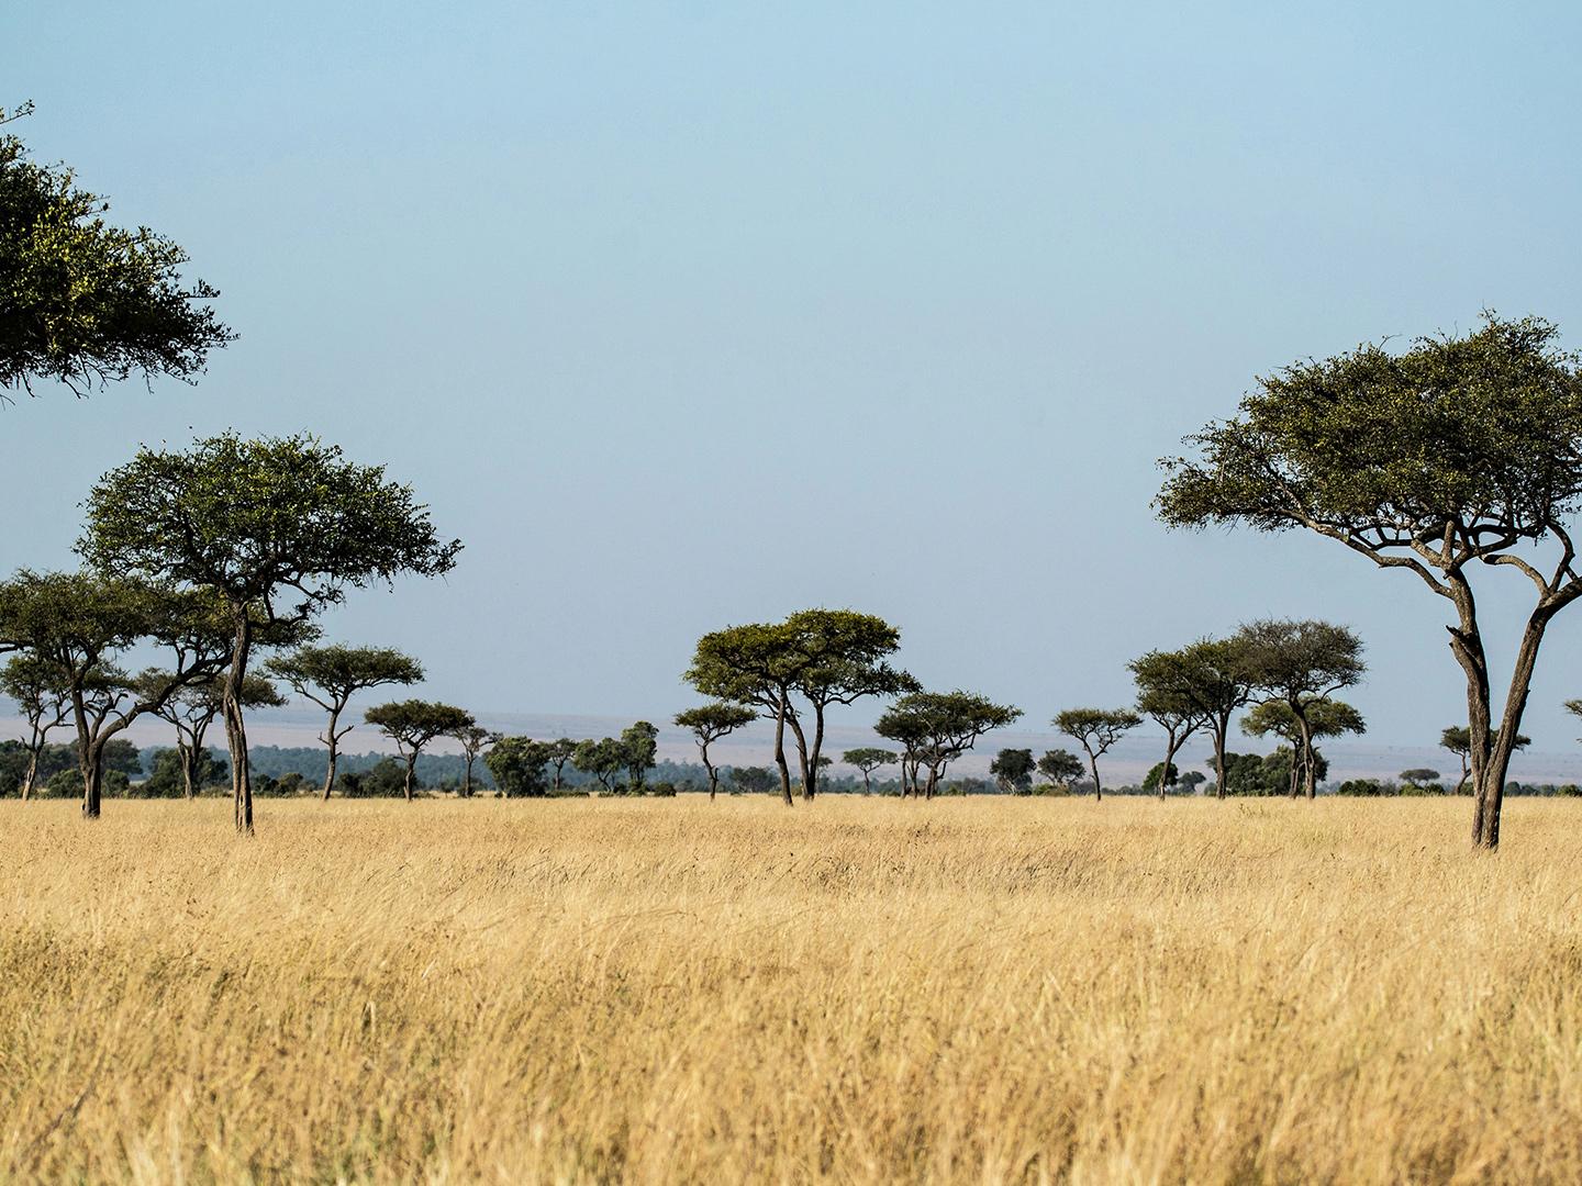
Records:
<instances>
[{"instance_id":1,"label":"dry golden grass covering the savanna floor","mask_svg":"<svg viewBox=\"0 0 1582 1186\"><path fill-rule=\"evenodd\" d=\"M0 805L0 1178L1577 1181L1582 806Z\"/></svg>"}]
</instances>

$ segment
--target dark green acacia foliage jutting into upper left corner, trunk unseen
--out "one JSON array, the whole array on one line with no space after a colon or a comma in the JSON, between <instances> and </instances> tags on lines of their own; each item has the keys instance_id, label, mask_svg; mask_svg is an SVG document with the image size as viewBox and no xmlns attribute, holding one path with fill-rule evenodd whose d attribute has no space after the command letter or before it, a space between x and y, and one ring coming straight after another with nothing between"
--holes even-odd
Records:
<instances>
[{"instance_id":1,"label":"dark green acacia foliage jutting into upper left corner, trunk unseen","mask_svg":"<svg viewBox=\"0 0 1582 1186\"><path fill-rule=\"evenodd\" d=\"M111 226L108 210L71 169L0 136L0 397L38 380L78 395L134 373L191 381L234 337L201 304L218 291L182 278L187 253L146 226Z\"/></svg>"}]
</instances>

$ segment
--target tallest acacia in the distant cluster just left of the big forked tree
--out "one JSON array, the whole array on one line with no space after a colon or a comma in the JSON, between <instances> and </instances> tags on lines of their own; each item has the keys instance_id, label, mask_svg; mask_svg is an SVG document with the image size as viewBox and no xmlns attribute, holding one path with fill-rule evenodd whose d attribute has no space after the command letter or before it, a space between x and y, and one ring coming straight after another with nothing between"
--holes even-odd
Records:
<instances>
[{"instance_id":1,"label":"tallest acacia in the distant cluster just left of the big forked tree","mask_svg":"<svg viewBox=\"0 0 1582 1186\"><path fill-rule=\"evenodd\" d=\"M1329 621L1292 621L1264 618L1237 633L1247 656L1248 678L1272 701L1280 701L1296 724L1294 764L1302 770L1307 797L1318 794L1313 770L1313 731L1307 720L1308 705L1330 693L1357 683L1367 664L1362 663L1362 639L1345 626Z\"/></svg>"}]
</instances>

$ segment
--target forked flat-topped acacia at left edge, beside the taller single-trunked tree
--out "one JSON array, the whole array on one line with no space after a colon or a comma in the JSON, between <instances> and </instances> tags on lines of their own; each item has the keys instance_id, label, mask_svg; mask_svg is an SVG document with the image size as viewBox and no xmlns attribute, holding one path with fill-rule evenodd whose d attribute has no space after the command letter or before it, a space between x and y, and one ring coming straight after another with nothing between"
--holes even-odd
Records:
<instances>
[{"instance_id":1,"label":"forked flat-topped acacia at left edge, beside the taller single-trunked tree","mask_svg":"<svg viewBox=\"0 0 1582 1186\"><path fill-rule=\"evenodd\" d=\"M85 819L103 810L104 750L115 735L225 664L215 615L210 596L136 579L22 569L0 584L0 648L54 667L71 702ZM115 659L139 642L166 648L171 669L130 680Z\"/></svg>"}]
</instances>

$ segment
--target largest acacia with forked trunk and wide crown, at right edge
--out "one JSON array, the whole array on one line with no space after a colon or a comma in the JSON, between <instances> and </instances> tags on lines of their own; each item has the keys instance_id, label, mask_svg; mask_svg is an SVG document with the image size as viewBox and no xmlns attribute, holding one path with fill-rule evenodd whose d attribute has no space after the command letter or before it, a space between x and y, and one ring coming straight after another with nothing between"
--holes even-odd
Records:
<instances>
[{"instance_id":1,"label":"largest acacia with forked trunk and wide crown, at right edge","mask_svg":"<svg viewBox=\"0 0 1582 1186\"><path fill-rule=\"evenodd\" d=\"M1155 506L1174 527L1305 528L1449 604L1467 678L1473 844L1500 808L1544 631L1582 596L1569 523L1582 508L1582 370L1557 329L1485 313L1463 335L1296 362L1258 380L1240 413L1164 459ZM1547 553L1539 558L1547 546ZM1473 572L1506 568L1535 599L1493 720Z\"/></svg>"}]
</instances>

